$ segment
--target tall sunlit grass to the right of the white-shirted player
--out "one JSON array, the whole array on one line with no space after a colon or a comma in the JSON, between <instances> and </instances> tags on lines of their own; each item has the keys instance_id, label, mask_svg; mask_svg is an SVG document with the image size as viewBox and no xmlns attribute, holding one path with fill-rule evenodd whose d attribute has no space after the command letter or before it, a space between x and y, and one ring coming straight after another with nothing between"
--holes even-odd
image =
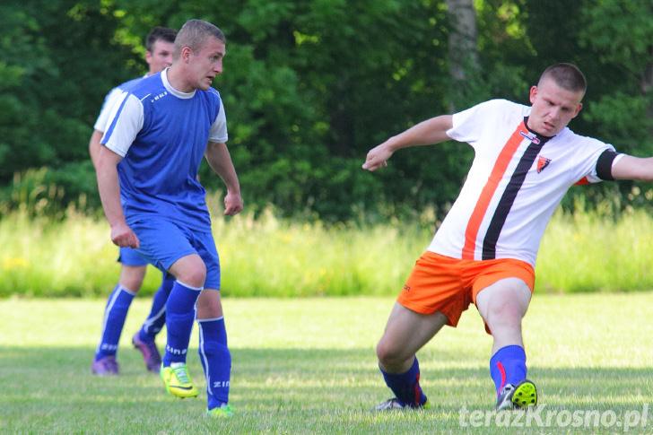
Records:
<instances>
[{"instance_id":1,"label":"tall sunlit grass to the right of the white-shirted player","mask_svg":"<svg viewBox=\"0 0 653 435\"><path fill-rule=\"evenodd\" d=\"M537 291L653 288L653 218L643 210L616 222L596 213L556 213L537 263Z\"/></svg>"}]
</instances>

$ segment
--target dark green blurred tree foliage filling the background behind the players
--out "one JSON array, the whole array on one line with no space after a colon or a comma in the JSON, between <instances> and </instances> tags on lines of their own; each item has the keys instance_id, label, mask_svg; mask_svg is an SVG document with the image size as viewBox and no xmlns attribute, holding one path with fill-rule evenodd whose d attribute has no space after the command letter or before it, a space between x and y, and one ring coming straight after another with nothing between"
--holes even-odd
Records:
<instances>
[{"instance_id":1,"label":"dark green blurred tree foliage filling the background behind the players","mask_svg":"<svg viewBox=\"0 0 653 435\"><path fill-rule=\"evenodd\" d=\"M653 154L650 0L8 0L0 5L0 214L101 215L88 141L106 93L144 74L144 37L191 18L228 40L230 150L249 210L339 222L446 210L466 144L366 152L424 118L489 98L528 103L554 62L588 77L570 127ZM222 188L204 165L210 191ZM632 195L641 192L641 195ZM650 187L574 187L586 204L648 206ZM47 201L40 201L41 199ZM564 203L573 207L572 199ZM23 204L23 205L21 205ZM39 205L40 204L40 205Z\"/></svg>"}]
</instances>

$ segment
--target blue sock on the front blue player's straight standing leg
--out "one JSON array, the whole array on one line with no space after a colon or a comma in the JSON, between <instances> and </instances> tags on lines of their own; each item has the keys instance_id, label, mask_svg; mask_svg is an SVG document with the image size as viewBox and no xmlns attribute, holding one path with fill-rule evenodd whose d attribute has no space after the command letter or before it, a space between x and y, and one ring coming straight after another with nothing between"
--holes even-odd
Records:
<instances>
[{"instance_id":1,"label":"blue sock on the front blue player's straight standing leg","mask_svg":"<svg viewBox=\"0 0 653 435\"><path fill-rule=\"evenodd\" d=\"M205 370L207 408L212 410L229 402L231 353L227 347L224 318L197 320L199 359Z\"/></svg>"}]
</instances>

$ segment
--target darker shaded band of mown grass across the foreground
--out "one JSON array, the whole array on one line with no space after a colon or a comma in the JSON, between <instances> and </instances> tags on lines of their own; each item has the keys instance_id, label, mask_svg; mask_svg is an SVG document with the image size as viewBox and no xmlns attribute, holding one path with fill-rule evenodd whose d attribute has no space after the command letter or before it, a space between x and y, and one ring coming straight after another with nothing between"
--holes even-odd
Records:
<instances>
[{"instance_id":1,"label":"darker shaded band of mown grass across the foreground","mask_svg":"<svg viewBox=\"0 0 653 435\"><path fill-rule=\"evenodd\" d=\"M444 368L423 369L421 379L432 408L417 413L370 412L391 396L370 349L236 348L231 353L230 402L238 418L216 426L201 418L205 379L194 348L187 361L200 394L178 400L165 392L156 374L145 370L133 349L118 352L120 376L98 378L91 375L92 349L2 347L0 433L526 432L492 419L482 427L471 425L469 413L492 412L496 400L486 361L476 351L437 352ZM424 356L424 361L434 358L435 352ZM470 361L477 367L470 368ZM534 367L529 378L539 390L538 409L553 410L556 416L566 415L561 411L614 410L615 418L623 419L625 413L653 403L649 369ZM653 410L649 421L629 433L653 431ZM528 432L609 430L594 424L585 431L557 420L537 424Z\"/></svg>"}]
</instances>

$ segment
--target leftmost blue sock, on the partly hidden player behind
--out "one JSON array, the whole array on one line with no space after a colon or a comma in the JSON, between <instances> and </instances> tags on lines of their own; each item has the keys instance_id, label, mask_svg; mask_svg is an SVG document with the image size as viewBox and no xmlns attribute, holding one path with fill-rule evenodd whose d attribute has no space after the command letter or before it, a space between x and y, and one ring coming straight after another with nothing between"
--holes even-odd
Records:
<instances>
[{"instance_id":1,"label":"leftmost blue sock, on the partly hidden player behind","mask_svg":"<svg viewBox=\"0 0 653 435\"><path fill-rule=\"evenodd\" d=\"M118 342L122 328L125 326L125 319L129 306L134 300L135 293L128 291L125 287L118 284L111 291L107 306L104 309L104 319L102 320L102 335L100 344L95 351L95 360L100 360L109 355L115 355L118 352Z\"/></svg>"}]
</instances>

